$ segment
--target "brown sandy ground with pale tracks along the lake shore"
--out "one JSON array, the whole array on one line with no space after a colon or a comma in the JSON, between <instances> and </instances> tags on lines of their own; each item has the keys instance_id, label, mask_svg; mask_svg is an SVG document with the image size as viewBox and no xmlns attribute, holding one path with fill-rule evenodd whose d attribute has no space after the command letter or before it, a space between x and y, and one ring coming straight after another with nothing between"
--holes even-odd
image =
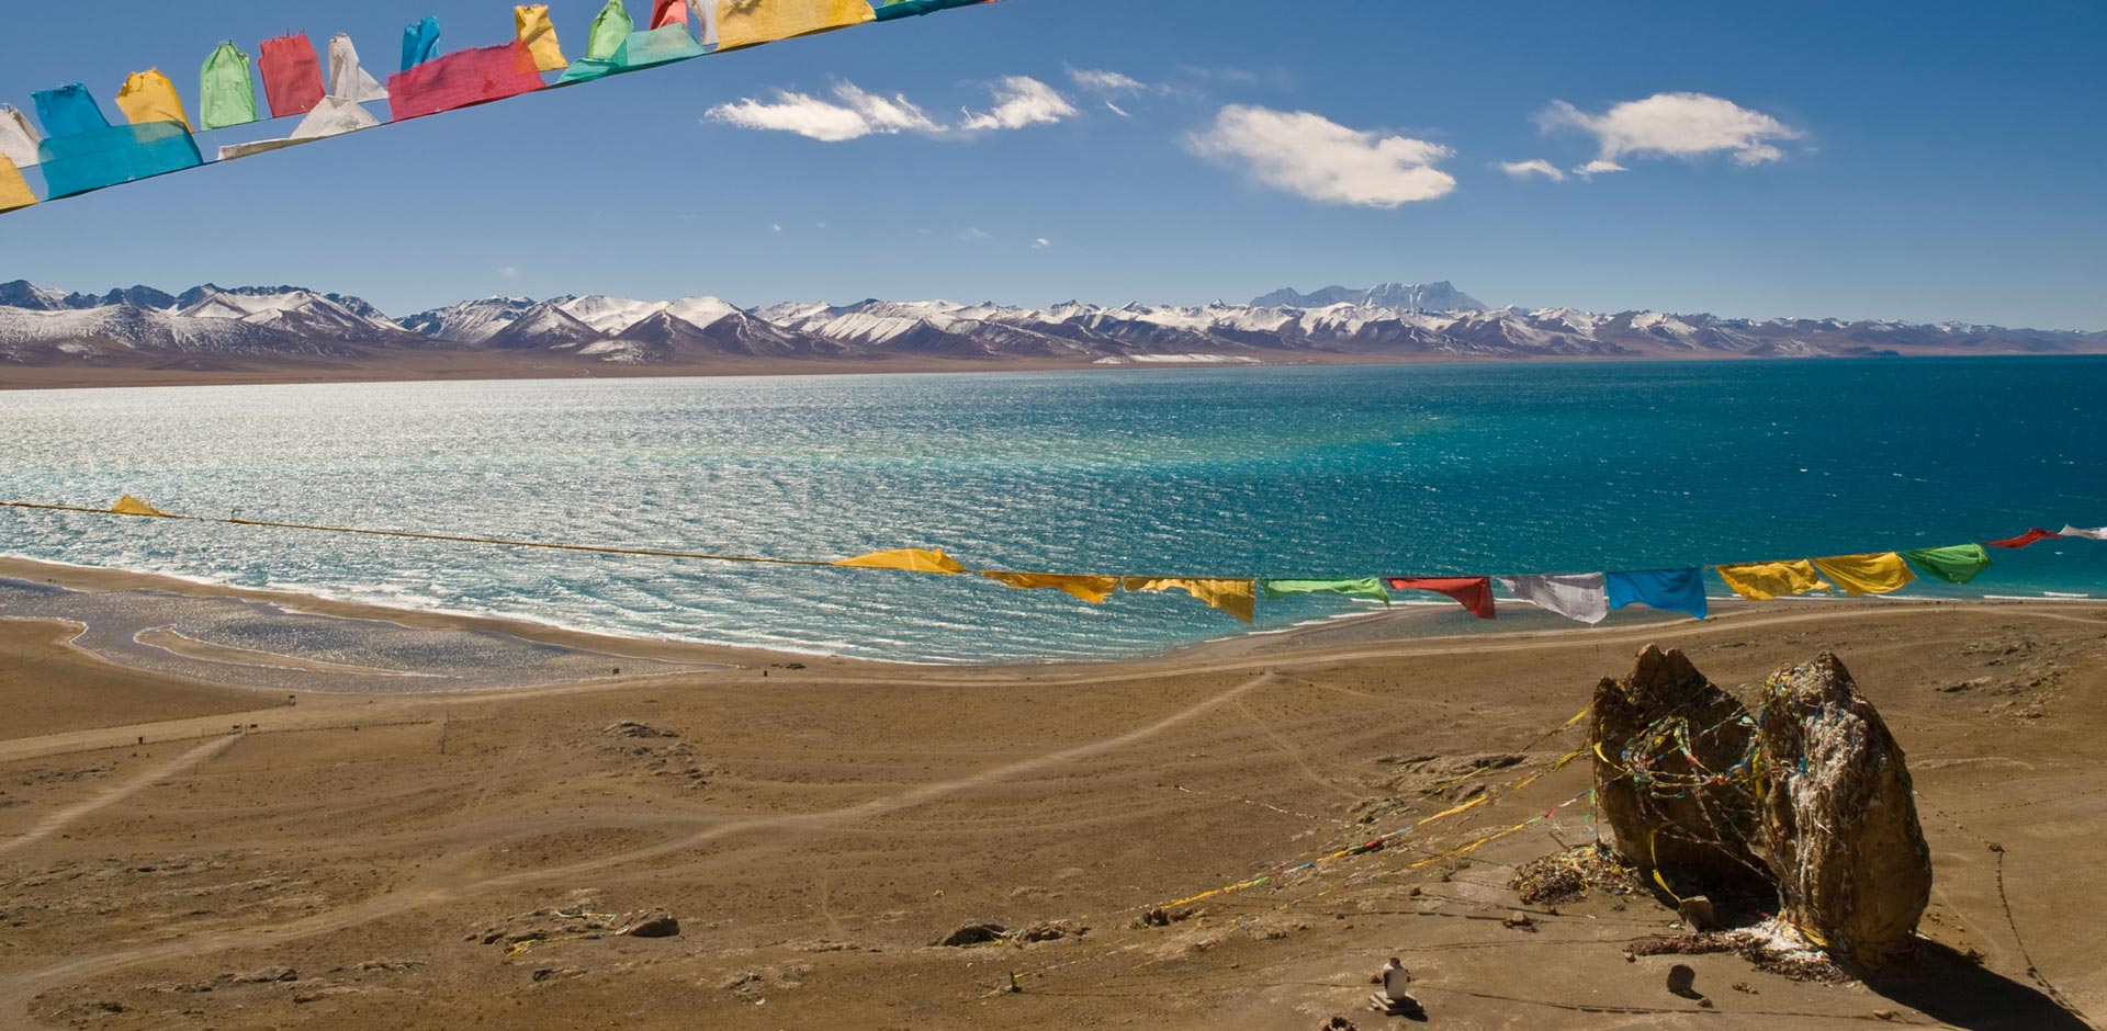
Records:
<instances>
[{"instance_id":1,"label":"brown sandy ground with pale tracks along the lake shore","mask_svg":"<svg viewBox=\"0 0 2107 1031\"><path fill-rule=\"evenodd\" d=\"M348 608L324 614L373 616ZM0 623L0 1027L1370 1029L1410 1023L1363 1004L1386 955L1454 1029L2107 1014L2107 606L1778 606L1450 640L1391 640L1378 619L1030 669L796 667L396 616L729 669L318 694L310 669L228 688L97 656L78 623ZM1673 930L1652 896L1504 926L1523 909L1513 865L1589 840L1584 802L1553 810L1587 764L1134 926L1544 768L1578 745L1553 730L1595 678L1648 642L1721 684L1844 656L1909 751L1934 850L1917 968L1806 985L1705 955L1688 959L1705 1010L1665 991L1675 957L1622 953ZM626 720L649 730L611 730ZM681 934L533 915L651 907ZM965 922L1070 932L931 945ZM1011 976L1022 991L1001 991Z\"/></svg>"}]
</instances>

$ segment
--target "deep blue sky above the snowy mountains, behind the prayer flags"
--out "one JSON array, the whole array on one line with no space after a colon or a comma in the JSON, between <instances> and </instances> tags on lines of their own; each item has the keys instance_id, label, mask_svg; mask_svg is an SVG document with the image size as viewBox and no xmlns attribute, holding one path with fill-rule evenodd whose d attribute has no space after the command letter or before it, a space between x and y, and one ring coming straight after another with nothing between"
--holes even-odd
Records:
<instances>
[{"instance_id":1,"label":"deep blue sky above the snowy mountains, behind the prayer flags","mask_svg":"<svg viewBox=\"0 0 2107 1031\"><path fill-rule=\"evenodd\" d=\"M194 105L223 38L350 32L390 72L424 15L442 50L512 32L483 0L13 6L0 101L23 109L78 80L116 114L150 65ZM598 0L550 6L575 53ZM2090 0L1005 0L6 215L0 280L295 282L394 314L1454 280L1530 307L2099 330L2103 40ZM1504 168L1525 162L1559 179Z\"/></svg>"}]
</instances>

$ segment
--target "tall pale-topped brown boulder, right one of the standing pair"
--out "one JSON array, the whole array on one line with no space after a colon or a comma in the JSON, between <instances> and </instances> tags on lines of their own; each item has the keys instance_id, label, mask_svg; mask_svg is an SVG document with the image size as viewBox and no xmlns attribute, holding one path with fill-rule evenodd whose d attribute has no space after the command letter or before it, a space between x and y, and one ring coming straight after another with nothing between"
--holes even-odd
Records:
<instances>
[{"instance_id":1,"label":"tall pale-topped brown boulder, right one of the standing pair","mask_svg":"<svg viewBox=\"0 0 2107 1031\"><path fill-rule=\"evenodd\" d=\"M1764 682L1759 730L1761 858L1785 919L1869 970L1909 955L1932 850L1888 724L1823 652Z\"/></svg>"}]
</instances>

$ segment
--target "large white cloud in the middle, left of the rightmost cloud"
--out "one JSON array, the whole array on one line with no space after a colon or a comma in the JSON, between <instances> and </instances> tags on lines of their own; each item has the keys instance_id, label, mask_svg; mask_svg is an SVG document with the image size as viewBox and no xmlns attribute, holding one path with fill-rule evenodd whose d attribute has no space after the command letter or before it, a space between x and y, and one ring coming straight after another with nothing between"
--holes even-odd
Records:
<instances>
[{"instance_id":1,"label":"large white cloud in the middle, left of the rightmost cloud","mask_svg":"<svg viewBox=\"0 0 2107 1031\"><path fill-rule=\"evenodd\" d=\"M1454 154L1448 147L1346 128L1311 112L1228 105L1214 128L1188 135L1186 145L1245 168L1264 185L1325 204L1395 208L1456 189L1456 177L1435 168Z\"/></svg>"}]
</instances>

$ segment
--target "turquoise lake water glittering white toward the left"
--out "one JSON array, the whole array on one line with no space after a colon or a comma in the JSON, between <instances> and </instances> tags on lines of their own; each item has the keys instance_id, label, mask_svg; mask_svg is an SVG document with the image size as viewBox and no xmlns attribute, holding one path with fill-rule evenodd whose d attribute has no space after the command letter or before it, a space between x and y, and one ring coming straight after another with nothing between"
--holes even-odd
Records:
<instances>
[{"instance_id":1,"label":"turquoise lake water glittering white toward the left","mask_svg":"<svg viewBox=\"0 0 2107 1031\"><path fill-rule=\"evenodd\" d=\"M0 497L1056 572L1591 572L2101 526L2103 425L2099 358L17 391ZM0 553L904 661L1245 629L1184 595L23 511ZM2107 595L2107 543L1995 558L1909 593ZM1355 610L1262 604L1258 629Z\"/></svg>"}]
</instances>

